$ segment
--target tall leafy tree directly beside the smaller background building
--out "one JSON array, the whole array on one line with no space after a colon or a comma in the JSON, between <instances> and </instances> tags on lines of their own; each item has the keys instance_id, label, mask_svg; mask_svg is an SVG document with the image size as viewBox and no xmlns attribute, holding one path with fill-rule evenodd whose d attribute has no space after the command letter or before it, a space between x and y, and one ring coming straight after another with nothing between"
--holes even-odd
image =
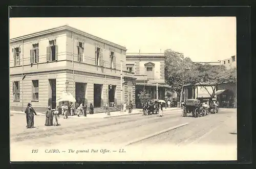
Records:
<instances>
[{"instance_id":1,"label":"tall leafy tree directly beside the smaller background building","mask_svg":"<svg viewBox=\"0 0 256 169\"><path fill-rule=\"evenodd\" d=\"M187 69L194 68L195 65L190 58L185 58L182 53L168 49L164 52L165 55L165 82L172 88L170 92L177 92L177 97L180 97L182 86L188 82L190 71Z\"/></svg>"}]
</instances>

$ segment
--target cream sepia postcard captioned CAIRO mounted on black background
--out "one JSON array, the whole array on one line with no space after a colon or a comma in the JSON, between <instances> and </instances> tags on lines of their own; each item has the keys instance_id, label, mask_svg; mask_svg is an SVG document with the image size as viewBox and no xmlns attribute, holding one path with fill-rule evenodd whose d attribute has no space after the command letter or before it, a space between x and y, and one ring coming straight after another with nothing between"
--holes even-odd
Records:
<instances>
[{"instance_id":1,"label":"cream sepia postcard captioned CAIRO mounted on black background","mask_svg":"<svg viewBox=\"0 0 256 169\"><path fill-rule=\"evenodd\" d=\"M10 17L10 161L237 160L236 17Z\"/></svg>"}]
</instances>

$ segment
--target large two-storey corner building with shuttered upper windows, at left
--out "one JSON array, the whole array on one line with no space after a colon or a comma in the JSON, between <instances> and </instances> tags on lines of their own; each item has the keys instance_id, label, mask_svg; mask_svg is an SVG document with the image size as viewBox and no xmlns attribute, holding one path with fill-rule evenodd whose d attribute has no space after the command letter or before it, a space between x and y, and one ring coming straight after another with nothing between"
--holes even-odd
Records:
<instances>
[{"instance_id":1,"label":"large two-storey corner building with shuttered upper windows, at left","mask_svg":"<svg viewBox=\"0 0 256 169\"><path fill-rule=\"evenodd\" d=\"M120 108L121 93L127 98L121 85L135 104L135 78L125 54L125 47L69 26L10 39L10 108L55 108L65 90L96 108L108 101Z\"/></svg>"}]
</instances>

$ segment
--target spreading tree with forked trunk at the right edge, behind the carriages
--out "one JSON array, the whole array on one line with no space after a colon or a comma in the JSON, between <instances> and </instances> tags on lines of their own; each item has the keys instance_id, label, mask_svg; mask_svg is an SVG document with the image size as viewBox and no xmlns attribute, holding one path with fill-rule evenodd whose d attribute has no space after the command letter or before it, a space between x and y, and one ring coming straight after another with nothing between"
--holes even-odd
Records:
<instances>
[{"instance_id":1,"label":"spreading tree with forked trunk at the right edge, behind the carriages","mask_svg":"<svg viewBox=\"0 0 256 169\"><path fill-rule=\"evenodd\" d=\"M198 84L203 87L212 99L215 96L215 90L219 84L227 82L235 83L236 79L236 69L226 69L223 65L212 66L209 64L199 64L191 70L189 81L192 85ZM210 86L212 91L207 86Z\"/></svg>"}]
</instances>

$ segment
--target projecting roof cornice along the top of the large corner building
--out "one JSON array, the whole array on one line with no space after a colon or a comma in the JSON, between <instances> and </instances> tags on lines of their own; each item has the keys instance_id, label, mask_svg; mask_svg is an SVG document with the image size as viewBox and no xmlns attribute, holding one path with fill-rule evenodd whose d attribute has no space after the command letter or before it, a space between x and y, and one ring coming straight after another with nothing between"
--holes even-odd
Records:
<instances>
[{"instance_id":1,"label":"projecting roof cornice along the top of the large corner building","mask_svg":"<svg viewBox=\"0 0 256 169\"><path fill-rule=\"evenodd\" d=\"M19 36L19 37L16 37L16 38L12 38L12 39L10 39L10 43L20 41L20 40L29 39L29 38L34 38L34 37L42 36L42 35L46 35L46 34L51 34L51 33L54 33L54 32L65 31L65 30L77 33L77 34L82 35L82 36L86 36L86 37L91 38L93 40L97 40L97 41L100 41L102 43L109 44L109 45L112 45L114 47L117 47L118 49L122 49L124 51L127 51L124 46L121 46L119 44L113 43L111 41L108 41L108 40L105 40L105 39L102 39L102 38L99 38L99 37L91 35L89 33L80 31L78 29L75 29L75 28L67 26L67 25L60 26L60 27L57 27L57 28L48 29L48 30L44 30L44 31L40 31L40 32L36 32L36 33L32 33L32 34L28 34L28 35L24 35L24 36Z\"/></svg>"}]
</instances>

